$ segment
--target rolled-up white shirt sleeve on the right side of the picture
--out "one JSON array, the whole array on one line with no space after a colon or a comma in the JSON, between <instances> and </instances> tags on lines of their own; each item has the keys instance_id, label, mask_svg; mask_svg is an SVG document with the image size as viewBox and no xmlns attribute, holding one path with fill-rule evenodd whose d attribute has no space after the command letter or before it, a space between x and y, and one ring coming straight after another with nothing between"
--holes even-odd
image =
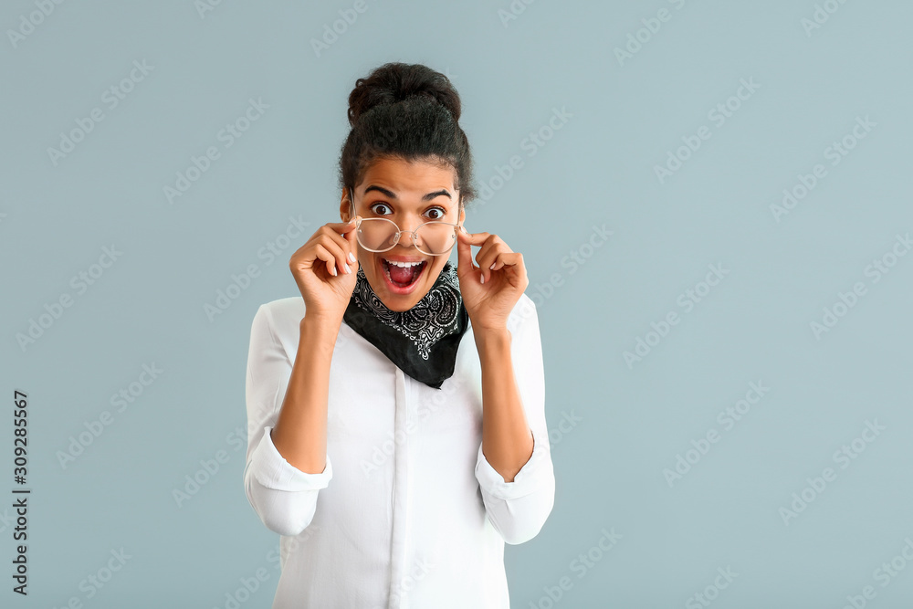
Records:
<instances>
[{"instance_id":1,"label":"rolled-up white shirt sleeve on the right side of the picture","mask_svg":"<svg viewBox=\"0 0 913 609\"><path fill-rule=\"evenodd\" d=\"M523 410L533 436L530 460L507 482L491 467L478 446L476 478L488 520L506 543L516 545L539 534L555 500L549 431L545 420L545 373L539 318L525 294L511 312L510 355Z\"/></svg>"}]
</instances>

